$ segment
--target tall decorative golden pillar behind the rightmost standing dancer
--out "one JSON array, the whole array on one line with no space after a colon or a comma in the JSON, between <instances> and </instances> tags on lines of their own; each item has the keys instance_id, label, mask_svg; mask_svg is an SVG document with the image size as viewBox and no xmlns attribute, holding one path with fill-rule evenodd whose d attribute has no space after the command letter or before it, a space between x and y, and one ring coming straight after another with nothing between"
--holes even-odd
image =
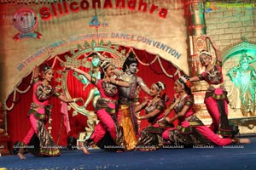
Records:
<instances>
[{"instance_id":1,"label":"tall decorative golden pillar behind the rightmost standing dancer","mask_svg":"<svg viewBox=\"0 0 256 170\"><path fill-rule=\"evenodd\" d=\"M208 50L207 41L201 38L201 34L207 33L205 0L187 0L184 1L184 7L189 36L189 76L195 77L203 71L199 54L201 50ZM193 82L192 93L195 98L196 115L206 124L210 124L212 120L204 104L207 87L205 81Z\"/></svg>"}]
</instances>

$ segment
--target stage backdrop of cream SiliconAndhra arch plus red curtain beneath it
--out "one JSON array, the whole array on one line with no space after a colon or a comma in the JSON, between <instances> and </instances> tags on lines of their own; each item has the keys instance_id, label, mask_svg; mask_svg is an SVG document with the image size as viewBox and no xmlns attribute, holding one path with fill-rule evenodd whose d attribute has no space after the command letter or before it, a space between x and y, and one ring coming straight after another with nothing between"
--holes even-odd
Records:
<instances>
[{"instance_id":1,"label":"stage backdrop of cream SiliconAndhra arch plus red curtain beneath it","mask_svg":"<svg viewBox=\"0 0 256 170\"><path fill-rule=\"evenodd\" d=\"M167 94L173 96L177 73L188 74L187 35L181 0L73 0L58 3L1 3L1 59L3 103L8 107L10 147L30 128L26 119L32 101L32 68L52 65L55 80L61 78L61 61L72 56L79 45L111 44L119 54L133 51L140 60L138 75L151 85L166 82ZM38 1L32 1L38 2ZM89 45L87 44L89 43ZM150 64L150 65L149 65ZM148 76L149 75L149 76ZM173 77L174 76L174 77ZM149 78L150 77L150 78ZM60 85L58 81L55 85ZM73 82L68 82L73 83ZM82 84L76 81L73 87ZM4 87L4 88L3 88ZM17 90L18 89L18 90ZM73 94L84 99L89 89ZM22 93L20 93L22 92ZM143 97L143 94L142 96ZM68 112L71 132L66 133L60 113L60 100L52 99L52 134L58 144L66 144L67 135L78 138L84 132L85 116ZM92 105L89 105L91 110ZM142 122L142 127L147 122Z\"/></svg>"}]
</instances>

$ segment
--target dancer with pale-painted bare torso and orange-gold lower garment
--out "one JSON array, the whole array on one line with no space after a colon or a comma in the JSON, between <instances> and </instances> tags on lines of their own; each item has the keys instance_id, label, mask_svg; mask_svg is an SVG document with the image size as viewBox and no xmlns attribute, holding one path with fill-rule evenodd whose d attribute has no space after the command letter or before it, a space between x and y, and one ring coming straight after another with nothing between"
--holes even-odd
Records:
<instances>
[{"instance_id":1,"label":"dancer with pale-painted bare torso and orange-gold lower garment","mask_svg":"<svg viewBox=\"0 0 256 170\"><path fill-rule=\"evenodd\" d=\"M102 60L106 60L101 54L97 53ZM115 69L114 73L120 80L129 82L130 87L119 88L119 106L118 121L123 129L125 138L125 150L134 150L137 145L138 125L136 111L137 87L142 89L146 94L150 94L148 86L143 82L141 77L137 77L138 60L135 54L130 53L125 59L122 70Z\"/></svg>"}]
</instances>

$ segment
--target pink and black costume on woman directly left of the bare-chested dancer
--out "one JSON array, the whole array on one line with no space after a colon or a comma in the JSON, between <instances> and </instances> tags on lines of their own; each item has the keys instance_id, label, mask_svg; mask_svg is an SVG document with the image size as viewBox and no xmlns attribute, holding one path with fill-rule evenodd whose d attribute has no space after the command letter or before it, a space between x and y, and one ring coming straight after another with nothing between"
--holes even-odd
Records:
<instances>
[{"instance_id":1,"label":"pink and black costume on woman directly left of the bare-chested dancer","mask_svg":"<svg viewBox=\"0 0 256 170\"><path fill-rule=\"evenodd\" d=\"M101 98L96 102L96 115L100 122L96 125L90 139L84 142L84 145L96 144L104 150L120 149L124 139L116 118L118 88L103 80L96 80L92 83L96 85L101 95Z\"/></svg>"}]
</instances>

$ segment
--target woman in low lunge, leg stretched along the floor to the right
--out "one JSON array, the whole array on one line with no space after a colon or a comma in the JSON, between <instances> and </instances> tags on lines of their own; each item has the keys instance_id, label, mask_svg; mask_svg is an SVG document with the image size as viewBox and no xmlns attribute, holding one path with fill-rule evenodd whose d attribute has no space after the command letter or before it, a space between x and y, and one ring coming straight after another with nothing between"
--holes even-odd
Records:
<instances>
[{"instance_id":1,"label":"woman in low lunge, leg stretched along the floor to the right","mask_svg":"<svg viewBox=\"0 0 256 170\"><path fill-rule=\"evenodd\" d=\"M194 97L190 88L186 84L185 77L180 77L174 84L174 90L177 93L177 99L173 99L172 108L176 116L166 117L162 122L172 123L178 119L180 125L167 129L162 137L167 140L167 144L175 146L207 146L207 145L227 145L235 143L249 144L249 139L231 139L220 138L212 130L205 126L200 119L194 115L193 105Z\"/></svg>"}]
</instances>

